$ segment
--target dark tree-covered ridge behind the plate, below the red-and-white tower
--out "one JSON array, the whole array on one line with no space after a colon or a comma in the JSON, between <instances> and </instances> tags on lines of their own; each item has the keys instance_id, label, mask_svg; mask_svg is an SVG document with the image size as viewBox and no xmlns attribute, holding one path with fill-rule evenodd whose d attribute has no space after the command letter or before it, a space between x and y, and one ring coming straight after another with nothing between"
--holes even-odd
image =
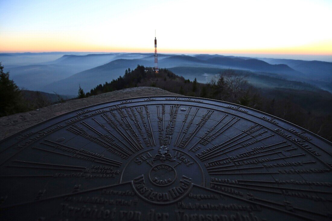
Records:
<instances>
[{"instance_id":1,"label":"dark tree-covered ridge behind the plate, below the red-and-white tower","mask_svg":"<svg viewBox=\"0 0 332 221\"><path fill-rule=\"evenodd\" d=\"M140 86L158 87L185 96L215 99L254 108L332 140L332 131L329 128L332 123L331 114L308 110L306 103L301 102L302 100L316 102L318 106L323 106L326 98L315 97L314 94L308 96L307 92L301 93L296 90L282 89L267 92L253 87L245 75L232 69L224 70L210 83L203 84L198 83L196 79L194 81L185 79L168 69L160 69L156 74L150 67L137 65L134 70L126 70L123 77L100 84L86 94L81 91L80 98ZM295 103L291 98L300 102Z\"/></svg>"}]
</instances>

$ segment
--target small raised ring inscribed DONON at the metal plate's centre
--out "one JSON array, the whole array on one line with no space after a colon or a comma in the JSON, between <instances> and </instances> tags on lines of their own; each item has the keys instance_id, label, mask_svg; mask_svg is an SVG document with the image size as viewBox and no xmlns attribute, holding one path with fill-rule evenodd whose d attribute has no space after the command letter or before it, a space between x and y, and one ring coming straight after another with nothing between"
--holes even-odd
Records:
<instances>
[{"instance_id":1,"label":"small raised ring inscribed DONON at the metal plate's centre","mask_svg":"<svg viewBox=\"0 0 332 221\"><path fill-rule=\"evenodd\" d=\"M157 186L168 186L176 180L176 171L169 164L158 164L151 168L149 180Z\"/></svg>"}]
</instances>

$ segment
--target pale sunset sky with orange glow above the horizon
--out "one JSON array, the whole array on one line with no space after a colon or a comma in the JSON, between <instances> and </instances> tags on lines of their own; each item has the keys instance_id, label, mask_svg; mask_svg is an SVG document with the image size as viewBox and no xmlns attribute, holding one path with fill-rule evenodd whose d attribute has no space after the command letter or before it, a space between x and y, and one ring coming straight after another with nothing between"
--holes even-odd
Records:
<instances>
[{"instance_id":1,"label":"pale sunset sky with orange glow above the horizon","mask_svg":"<svg viewBox=\"0 0 332 221\"><path fill-rule=\"evenodd\" d=\"M0 52L332 56L332 0L0 0Z\"/></svg>"}]
</instances>

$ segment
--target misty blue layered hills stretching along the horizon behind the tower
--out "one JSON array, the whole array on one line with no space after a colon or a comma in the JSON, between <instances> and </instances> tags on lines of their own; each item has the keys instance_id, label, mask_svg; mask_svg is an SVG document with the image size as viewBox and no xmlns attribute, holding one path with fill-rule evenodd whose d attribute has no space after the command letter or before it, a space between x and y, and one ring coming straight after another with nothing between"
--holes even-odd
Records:
<instances>
[{"instance_id":1,"label":"misty blue layered hills stretching along the horizon behind the tower","mask_svg":"<svg viewBox=\"0 0 332 221\"><path fill-rule=\"evenodd\" d=\"M30 54L0 54L13 62L15 57L31 56ZM33 65L13 65L10 63L11 77L17 85L28 90L39 90L48 93L77 94L79 85L88 91L96 84L111 81L121 75L127 68L137 64L154 66L153 53L99 53L99 54L51 54L58 55L55 60ZM0 56L0 59L1 59ZM41 56L40 54L34 56ZM31 57L29 57L30 59ZM5 60L6 60L5 59ZM29 60L28 59L28 60ZM25 62L28 62L25 60ZM1 60L0 60L1 61ZM291 59L256 59L251 57L223 55L174 55L159 54L160 68L175 68L176 74L206 83L219 69L239 69L269 77L283 78L291 81L307 82L325 90L332 91L332 63L322 61L303 61ZM192 70L193 74L183 71ZM176 69L178 68L178 69ZM180 69L179 69L180 68ZM181 69L182 68L182 69ZM194 69L193 69L194 68ZM195 68L199 68L195 70ZM210 68L209 71L203 68ZM178 70L181 70L178 72ZM186 72L186 73L184 73ZM196 73L196 74L194 74Z\"/></svg>"}]
</instances>

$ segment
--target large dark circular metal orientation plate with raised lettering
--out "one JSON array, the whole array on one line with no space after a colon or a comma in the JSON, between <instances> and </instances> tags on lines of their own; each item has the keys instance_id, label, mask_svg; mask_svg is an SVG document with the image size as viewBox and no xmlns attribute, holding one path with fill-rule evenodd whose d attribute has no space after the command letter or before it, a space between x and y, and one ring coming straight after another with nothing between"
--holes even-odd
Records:
<instances>
[{"instance_id":1,"label":"large dark circular metal orientation plate with raised lettering","mask_svg":"<svg viewBox=\"0 0 332 221\"><path fill-rule=\"evenodd\" d=\"M2 220L330 220L331 143L238 105L142 97L0 143Z\"/></svg>"}]
</instances>

